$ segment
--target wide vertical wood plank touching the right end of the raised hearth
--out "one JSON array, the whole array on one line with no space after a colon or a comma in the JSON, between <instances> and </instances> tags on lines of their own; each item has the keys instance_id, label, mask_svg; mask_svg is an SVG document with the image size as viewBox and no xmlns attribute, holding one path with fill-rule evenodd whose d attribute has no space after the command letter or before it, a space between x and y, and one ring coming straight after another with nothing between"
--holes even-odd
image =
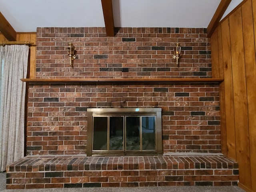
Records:
<instances>
[{"instance_id":1,"label":"wide vertical wood plank touching the right end of the raised hearth","mask_svg":"<svg viewBox=\"0 0 256 192\"><path fill-rule=\"evenodd\" d=\"M248 111L246 98L246 76L242 11L236 10L230 17L230 42L234 90L234 115L236 131L236 160L240 165L240 182L251 188L250 149L248 133Z\"/></svg>"}]
</instances>

